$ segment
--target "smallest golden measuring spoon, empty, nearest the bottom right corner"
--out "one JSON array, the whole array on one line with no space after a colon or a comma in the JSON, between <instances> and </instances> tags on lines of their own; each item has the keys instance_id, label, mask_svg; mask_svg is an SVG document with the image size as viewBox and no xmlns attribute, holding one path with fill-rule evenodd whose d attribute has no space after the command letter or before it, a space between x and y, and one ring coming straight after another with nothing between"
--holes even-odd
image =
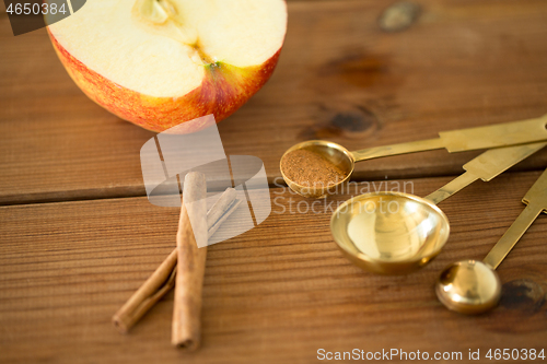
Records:
<instances>
[{"instance_id":1,"label":"smallest golden measuring spoon, empty, nearest the bottom right corner","mask_svg":"<svg viewBox=\"0 0 547 364\"><path fill-rule=\"evenodd\" d=\"M481 314L501 297L501 281L494 269L503 261L529 225L547 212L547 171L526 192L526 209L520 214L484 261L462 260L446 267L435 285L437 296L447 308L462 314Z\"/></svg>"}]
</instances>

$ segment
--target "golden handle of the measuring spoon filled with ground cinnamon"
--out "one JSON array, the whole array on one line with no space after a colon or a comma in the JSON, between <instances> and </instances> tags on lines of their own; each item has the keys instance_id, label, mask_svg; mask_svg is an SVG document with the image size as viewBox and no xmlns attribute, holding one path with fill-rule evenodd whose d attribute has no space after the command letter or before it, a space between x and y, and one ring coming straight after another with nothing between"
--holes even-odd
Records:
<instances>
[{"instance_id":1,"label":"golden handle of the measuring spoon filled with ground cinnamon","mask_svg":"<svg viewBox=\"0 0 547 364\"><path fill-rule=\"evenodd\" d=\"M547 140L547 115L539 118L440 132L440 138L351 152L356 162L445 148L450 153Z\"/></svg>"}]
</instances>

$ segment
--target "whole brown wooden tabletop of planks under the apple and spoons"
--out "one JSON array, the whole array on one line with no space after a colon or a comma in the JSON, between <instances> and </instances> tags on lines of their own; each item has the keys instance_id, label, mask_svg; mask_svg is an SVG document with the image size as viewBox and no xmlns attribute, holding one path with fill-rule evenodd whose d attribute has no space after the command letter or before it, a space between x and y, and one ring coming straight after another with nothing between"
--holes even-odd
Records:
<instances>
[{"instance_id":1,"label":"whole brown wooden tabletop of planks under the apple and spoons","mask_svg":"<svg viewBox=\"0 0 547 364\"><path fill-rule=\"evenodd\" d=\"M150 204L140 172L153 133L88 99L46 32L14 37L2 5L0 362L313 363L319 349L462 352L468 362L469 350L482 360L489 349L547 350L545 216L499 268L504 293L492 313L451 313L432 289L445 265L489 251L547 151L443 202L449 244L405 277L346 260L329 213L288 210L302 199L279 184L278 164L295 142L360 149L547 113L547 2L416 0L414 24L388 33L377 19L392 3L289 1L274 77L219 125L226 154L265 162L278 204L257 228L210 247L202 348L191 354L170 344L172 294L127 336L110 324L175 245L178 210ZM411 183L424 196L477 154L371 161L354 179L380 189Z\"/></svg>"}]
</instances>

